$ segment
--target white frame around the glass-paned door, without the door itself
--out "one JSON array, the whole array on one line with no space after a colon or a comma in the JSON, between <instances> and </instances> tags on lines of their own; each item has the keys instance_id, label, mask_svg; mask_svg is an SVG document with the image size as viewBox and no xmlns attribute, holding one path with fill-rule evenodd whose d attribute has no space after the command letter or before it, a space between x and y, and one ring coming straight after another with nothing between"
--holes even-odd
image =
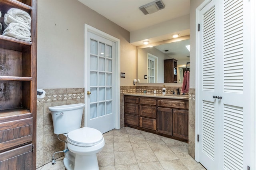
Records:
<instances>
[{"instance_id":1,"label":"white frame around the glass-paned door, without the door itself","mask_svg":"<svg viewBox=\"0 0 256 170\"><path fill-rule=\"evenodd\" d=\"M111 40L112 42L116 43L116 59L115 59L115 68L113 72L115 72L115 79L116 79L116 89L114 89L116 96L114 98L116 99L116 108L113 108L113 111L115 113L115 128L119 129L120 128L120 40L118 38L115 38L113 36L110 36L109 34L106 34L105 32L102 32L92 26L89 26L87 24L84 24L84 77L87 75L87 70L86 70L86 65L87 65L87 59L88 59L88 53L87 53L87 46L88 42L87 37L88 37L88 32L91 32L93 34L96 34L98 36L101 36L103 38L106 38L108 40ZM84 103L85 103L85 108L90 107L87 106L87 79L84 78ZM86 111L86 109L85 109ZM84 126L87 127L87 114L84 114Z\"/></svg>"}]
</instances>

